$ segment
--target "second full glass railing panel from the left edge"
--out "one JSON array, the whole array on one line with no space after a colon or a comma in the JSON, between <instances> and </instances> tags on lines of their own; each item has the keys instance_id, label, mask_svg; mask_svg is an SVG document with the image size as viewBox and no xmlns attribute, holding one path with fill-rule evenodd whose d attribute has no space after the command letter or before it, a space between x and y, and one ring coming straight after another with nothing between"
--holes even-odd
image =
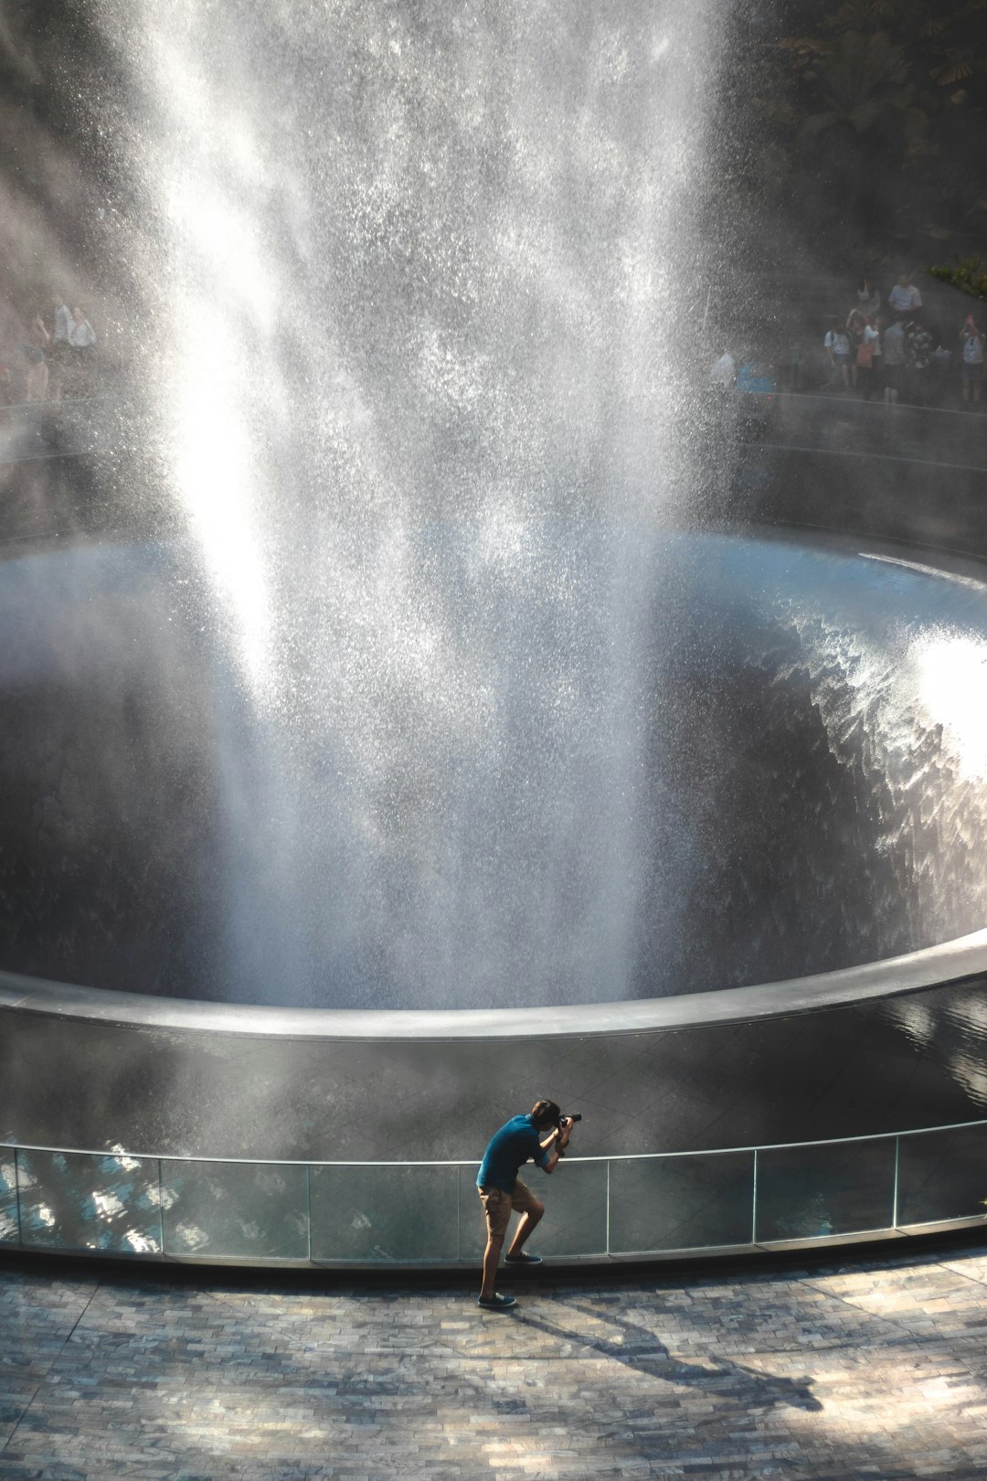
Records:
<instances>
[{"instance_id":1,"label":"second full glass railing panel from the left edge","mask_svg":"<svg viewBox=\"0 0 987 1481\"><path fill-rule=\"evenodd\" d=\"M305 1167L161 1163L166 1254L308 1259Z\"/></svg>"}]
</instances>

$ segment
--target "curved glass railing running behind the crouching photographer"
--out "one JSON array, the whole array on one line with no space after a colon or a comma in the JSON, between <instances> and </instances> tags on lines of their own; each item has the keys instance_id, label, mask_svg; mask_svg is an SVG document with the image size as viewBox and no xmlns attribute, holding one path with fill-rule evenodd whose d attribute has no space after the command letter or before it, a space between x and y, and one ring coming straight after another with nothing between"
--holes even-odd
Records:
<instances>
[{"instance_id":1,"label":"curved glass railing running behind the crouching photographer","mask_svg":"<svg viewBox=\"0 0 987 1481\"><path fill-rule=\"evenodd\" d=\"M0 1146L0 1246L157 1260L475 1265L478 1163L271 1163ZM987 1217L987 1121L570 1157L534 1169L539 1251L660 1259L919 1234Z\"/></svg>"}]
</instances>

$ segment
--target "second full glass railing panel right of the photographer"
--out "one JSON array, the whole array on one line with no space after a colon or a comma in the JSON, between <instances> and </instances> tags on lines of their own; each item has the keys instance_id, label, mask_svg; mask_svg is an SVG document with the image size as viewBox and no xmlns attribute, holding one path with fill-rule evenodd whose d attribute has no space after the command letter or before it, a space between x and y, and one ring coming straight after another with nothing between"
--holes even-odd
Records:
<instances>
[{"instance_id":1,"label":"second full glass railing panel right of the photographer","mask_svg":"<svg viewBox=\"0 0 987 1481\"><path fill-rule=\"evenodd\" d=\"M758 1152L758 1241L891 1228L894 1137Z\"/></svg>"}]
</instances>

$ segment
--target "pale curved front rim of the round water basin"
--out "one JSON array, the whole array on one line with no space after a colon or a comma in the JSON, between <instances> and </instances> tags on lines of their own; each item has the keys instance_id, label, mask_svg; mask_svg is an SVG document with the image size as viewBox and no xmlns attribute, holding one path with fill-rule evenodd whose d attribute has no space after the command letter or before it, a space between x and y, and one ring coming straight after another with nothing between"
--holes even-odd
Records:
<instances>
[{"instance_id":1,"label":"pale curved front rim of the round water basin","mask_svg":"<svg viewBox=\"0 0 987 1481\"><path fill-rule=\"evenodd\" d=\"M808 977L669 998L519 1009L293 1009L110 992L0 973L0 1010L257 1038L531 1040L642 1034L781 1017L917 992L987 973L987 930Z\"/></svg>"}]
</instances>

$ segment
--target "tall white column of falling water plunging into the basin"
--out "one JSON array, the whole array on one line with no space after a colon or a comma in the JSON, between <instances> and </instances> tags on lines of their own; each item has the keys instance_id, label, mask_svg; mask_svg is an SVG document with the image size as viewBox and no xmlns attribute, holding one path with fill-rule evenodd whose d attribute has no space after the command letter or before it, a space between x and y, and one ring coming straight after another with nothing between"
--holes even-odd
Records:
<instances>
[{"instance_id":1,"label":"tall white column of falling water plunging into the basin","mask_svg":"<svg viewBox=\"0 0 987 1481\"><path fill-rule=\"evenodd\" d=\"M229 994L624 995L641 592L545 521L698 477L719 7L95 13L152 475L252 709Z\"/></svg>"}]
</instances>

